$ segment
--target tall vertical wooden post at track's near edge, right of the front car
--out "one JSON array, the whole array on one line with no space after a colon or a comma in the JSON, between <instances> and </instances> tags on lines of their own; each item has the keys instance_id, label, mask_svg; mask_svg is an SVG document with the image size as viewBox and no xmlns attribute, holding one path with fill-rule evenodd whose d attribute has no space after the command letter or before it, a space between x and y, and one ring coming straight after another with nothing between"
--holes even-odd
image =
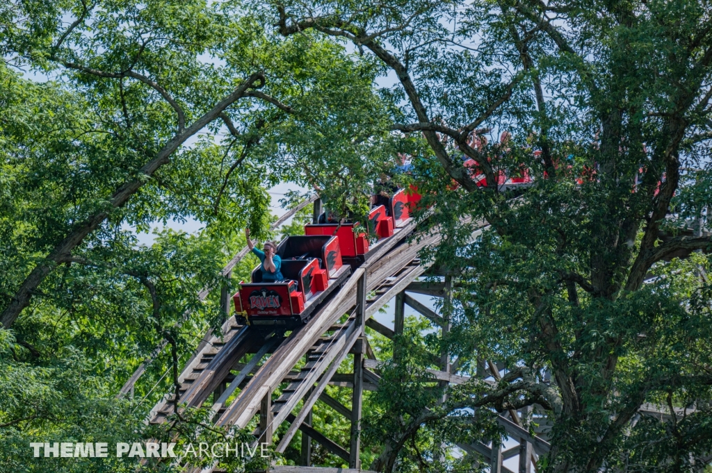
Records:
<instances>
[{"instance_id":1,"label":"tall vertical wooden post at track's near edge, right of the front car","mask_svg":"<svg viewBox=\"0 0 712 473\"><path fill-rule=\"evenodd\" d=\"M366 327L366 274L360 278L356 285L356 323L361 331L362 339L365 339ZM351 403L351 448L349 457L349 468L361 468L361 408L363 403L363 345L360 353L354 354L354 377L353 395ZM356 348L356 346L354 347Z\"/></svg>"}]
</instances>

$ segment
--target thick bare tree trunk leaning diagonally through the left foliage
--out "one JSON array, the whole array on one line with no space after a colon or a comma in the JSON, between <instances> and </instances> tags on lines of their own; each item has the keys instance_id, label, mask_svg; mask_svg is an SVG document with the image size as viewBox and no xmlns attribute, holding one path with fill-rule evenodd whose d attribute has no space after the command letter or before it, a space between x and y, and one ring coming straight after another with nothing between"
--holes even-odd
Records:
<instances>
[{"instance_id":1,"label":"thick bare tree trunk leaning diagonally through the left foliage","mask_svg":"<svg viewBox=\"0 0 712 473\"><path fill-rule=\"evenodd\" d=\"M259 80L260 84L254 83ZM42 283L45 277L61 262L70 257L71 252L80 245L84 238L96 230L101 223L115 209L123 206L129 198L136 193L146 182L147 177L152 176L161 166L167 164L171 154L183 144L189 137L203 129L207 124L219 117L221 112L232 105L236 100L245 95L251 87L261 87L264 84L264 77L261 73L251 75L247 80L239 85L230 95L225 97L215 107L205 115L197 119L190 127L177 134L171 139L156 155L152 161L143 166L136 179L126 182L114 192L110 199L110 205L103 211L95 213L93 216L80 223L75 230L64 238L52 251L30 272L22 282L8 307L0 315L0 320L5 329L9 329L14 321L19 317L25 307L30 304L33 293Z\"/></svg>"}]
</instances>

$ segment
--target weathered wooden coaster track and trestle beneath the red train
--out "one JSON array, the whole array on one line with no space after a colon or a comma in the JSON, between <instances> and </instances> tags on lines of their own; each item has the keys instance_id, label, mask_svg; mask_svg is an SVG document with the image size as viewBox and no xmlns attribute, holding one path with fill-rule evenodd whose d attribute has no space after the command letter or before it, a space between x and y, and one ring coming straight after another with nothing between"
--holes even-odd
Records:
<instances>
[{"instance_id":1,"label":"weathered wooden coaster track and trestle beneath the red train","mask_svg":"<svg viewBox=\"0 0 712 473\"><path fill-rule=\"evenodd\" d=\"M314 199L312 199L314 200ZM315 203L315 218L320 201ZM481 233L481 225L478 233ZM276 328L266 334L264 329L243 326L234 317L228 317L222 326L221 337L208 332L199 344L194 356L179 376L181 405L201 406L213 394L212 410L214 424L219 427L244 428L258 418L254 433L256 441L273 442L274 432L283 422L288 423L286 432L278 439L277 452L284 452L296 432L302 432L301 459L303 467L275 467L281 473L357 473L360 464L360 422L363 390L376 390L379 367L365 336L365 326L393 339L402 333L405 306L434 321L446 334L450 328L449 307L453 281L444 277L444 282L422 282L418 278L428 270L428 265L418 259L419 250L439 243L440 235L428 233L419 238L408 239L417 231L416 225L408 223L386 244L379 245L377 254L358 267L340 289L330 295L307 324L286 334ZM242 254L244 256L244 254ZM239 260L241 255L236 257ZM235 260L234 260L235 261ZM234 266L234 262L232 265ZM226 268L226 270L231 267ZM412 294L442 297L442 314L424 306ZM225 294L223 294L226 297ZM379 324L372 316L390 300L395 300L394 329ZM227 312L228 304L224 304ZM345 321L340 321L348 314ZM246 354L255 354L247 363L241 363ZM348 354L353 354L353 369L348 375L337 374L337 368ZM397 352L394 353L397 358ZM440 383L464 383L469 378L456 374L457 361L442 353L439 370L428 370ZM261 364L259 364L261 363ZM295 369L296 366L300 368ZM501 378L503 366L483 361L478 376L490 382ZM142 368L140 368L142 369ZM140 373L139 375L140 376ZM122 389L130 391L133 376ZM348 408L325 393L328 384L352 389L352 405ZM280 395L273 393L280 388ZM231 396L239 393L231 403ZM349 445L339 445L312 423L313 408L317 402L328 405L336 413L351 422ZM301 407L296 410L301 403ZM150 422L163 422L172 413L173 397L165 395L150 413ZM457 445L467 454L478 454L490 465L493 473L512 472L504 466L509 459L517 458L515 471L533 472L539 455L549 451L548 425L543 413L525 408L520 412L510 411L499 415L498 422L507 432L504 447L498 442L485 445L481 442ZM658 412L649 406L651 412ZM530 435L525 420L533 416L539 424L536 435ZM312 441L340 457L348 469L322 469L311 465ZM508 462L512 464L512 462ZM365 465L369 467L369 465ZM335 470L338 470L336 472ZM217 471L214 467L197 472Z\"/></svg>"}]
</instances>

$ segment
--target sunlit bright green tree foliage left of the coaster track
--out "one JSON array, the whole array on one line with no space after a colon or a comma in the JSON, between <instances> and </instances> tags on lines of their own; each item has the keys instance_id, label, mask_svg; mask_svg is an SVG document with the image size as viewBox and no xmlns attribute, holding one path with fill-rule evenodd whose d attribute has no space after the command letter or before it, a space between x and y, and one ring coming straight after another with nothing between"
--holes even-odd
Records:
<instances>
[{"instance_id":1,"label":"sunlit bright green tree foliage left of the coaster track","mask_svg":"<svg viewBox=\"0 0 712 473\"><path fill-rule=\"evenodd\" d=\"M6 1L0 16L0 469L141 467L38 462L33 441L224 438L202 411L163 431L143 420L219 328L219 289L234 288L221 268L242 229L272 236L268 188L326 188L310 169L327 165L342 189L365 188L389 161L377 67L312 34L273 33L239 3ZM163 230L150 246L133 231L189 218L199 233ZM205 287L218 290L201 301Z\"/></svg>"}]
</instances>

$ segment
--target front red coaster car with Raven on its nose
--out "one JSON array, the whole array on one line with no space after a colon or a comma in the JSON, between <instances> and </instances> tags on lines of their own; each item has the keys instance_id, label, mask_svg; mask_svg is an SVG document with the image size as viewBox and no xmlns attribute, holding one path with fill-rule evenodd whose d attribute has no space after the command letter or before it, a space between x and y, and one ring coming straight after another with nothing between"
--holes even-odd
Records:
<instances>
[{"instance_id":1,"label":"front red coaster car with Raven on its nose","mask_svg":"<svg viewBox=\"0 0 712 473\"><path fill-rule=\"evenodd\" d=\"M263 282L260 266L252 282L240 283L233 296L236 312L252 325L297 325L351 274L343 265L339 238L329 235L291 236L277 247L284 280Z\"/></svg>"}]
</instances>

